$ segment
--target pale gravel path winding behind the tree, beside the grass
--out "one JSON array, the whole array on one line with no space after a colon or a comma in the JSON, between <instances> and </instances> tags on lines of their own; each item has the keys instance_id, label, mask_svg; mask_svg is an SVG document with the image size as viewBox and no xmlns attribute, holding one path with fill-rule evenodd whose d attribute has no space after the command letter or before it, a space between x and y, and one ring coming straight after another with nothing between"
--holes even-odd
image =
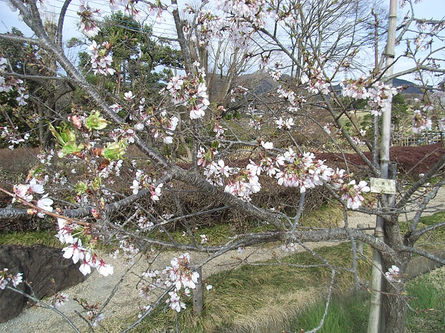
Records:
<instances>
[{"instance_id":1,"label":"pale gravel path winding behind the tree, beside the grass","mask_svg":"<svg viewBox=\"0 0 445 333\"><path fill-rule=\"evenodd\" d=\"M428 214L437 211L445 211L445 188L442 188L436 198L428 206ZM415 212L407 212L405 218L412 218ZM402 218L403 219L403 218ZM353 212L349 215L349 226L356 227L361 224L364 227L373 227L375 225L375 217L366 214ZM317 248L321 246L334 245L334 242L307 243L309 248ZM266 247L250 247L239 253L238 251L229 251L226 254L212 260L203 267L203 278L215 274L217 272L228 270L240 263L239 259L249 258L250 262L263 261L271 259L273 253L278 256L288 255L276 245ZM179 252L164 252L157 258L153 269L163 269L170 264L170 260L180 254ZM194 262L201 262L207 257L207 254L192 253ZM141 259L137 257L136 260ZM102 304L107 297L115 290L115 295L104 310L105 318L113 318L115 320L128 319L130 315L137 313L139 306L143 305L138 290L135 287L138 282L138 275L142 273L147 265L139 260L133 267L123 262L121 259L109 258L114 265L114 274L109 277L102 277L94 271L83 283L71 287L64 292L69 295L70 300L66 302L60 310L65 313L81 331L86 328L85 322L75 314L75 311L82 312L82 308L73 301L73 297L87 299L90 304ZM122 281L121 281L122 279ZM120 282L121 281L121 282ZM120 283L119 283L120 282ZM5 333L28 333L28 332L71 332L72 328L55 314L53 311L34 306L26 309L20 316L6 322L0 323L0 331Z\"/></svg>"}]
</instances>

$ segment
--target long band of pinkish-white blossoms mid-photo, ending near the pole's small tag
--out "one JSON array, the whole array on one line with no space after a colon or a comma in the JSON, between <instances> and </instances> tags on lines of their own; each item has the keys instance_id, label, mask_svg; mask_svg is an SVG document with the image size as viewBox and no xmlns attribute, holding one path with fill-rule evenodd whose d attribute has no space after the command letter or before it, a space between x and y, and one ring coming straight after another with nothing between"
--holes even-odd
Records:
<instances>
[{"instance_id":1,"label":"long band of pinkish-white blossoms mid-photo, ending near the pole's small tag","mask_svg":"<svg viewBox=\"0 0 445 333\"><path fill-rule=\"evenodd\" d=\"M273 148L271 142L261 141L261 146L266 152ZM204 155L204 149L201 148L200 151L201 156ZM232 168L222 159L213 161L209 157L202 159L201 163L198 161L198 165L204 168L203 174L207 181L224 186L225 192L246 201L250 201L251 195L261 190L259 176L263 173L275 178L279 185L299 188L301 193L316 186L330 184L340 193L341 199L350 209L359 208L365 200L363 194L370 191L365 181L357 184L345 170L334 170L324 161L316 159L313 153L297 154L292 148L274 158L265 156L259 164L250 160L245 168Z\"/></svg>"}]
</instances>

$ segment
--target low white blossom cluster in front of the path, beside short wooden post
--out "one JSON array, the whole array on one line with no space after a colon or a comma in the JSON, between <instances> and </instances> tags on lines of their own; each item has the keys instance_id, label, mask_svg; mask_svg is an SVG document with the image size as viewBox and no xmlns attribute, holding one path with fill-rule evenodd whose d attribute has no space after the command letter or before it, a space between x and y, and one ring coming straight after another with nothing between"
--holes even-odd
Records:
<instances>
[{"instance_id":1,"label":"low white blossom cluster in front of the path, beside short wooden post","mask_svg":"<svg viewBox=\"0 0 445 333\"><path fill-rule=\"evenodd\" d=\"M190 268L190 254L184 253L173 258L170 266L162 272L158 270L147 271L142 274L144 283L139 289L142 297L149 298L151 292L156 288L170 288L169 298L166 303L172 310L180 312L185 309L185 303L181 301L179 293L182 291L186 296L190 295L190 289L195 289L199 274Z\"/></svg>"}]
</instances>

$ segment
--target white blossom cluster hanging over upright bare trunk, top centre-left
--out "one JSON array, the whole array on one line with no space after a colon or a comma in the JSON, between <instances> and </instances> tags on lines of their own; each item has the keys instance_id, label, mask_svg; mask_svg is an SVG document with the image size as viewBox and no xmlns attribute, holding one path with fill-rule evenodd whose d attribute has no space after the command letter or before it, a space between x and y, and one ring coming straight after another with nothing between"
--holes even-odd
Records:
<instances>
[{"instance_id":1,"label":"white blossom cluster hanging over upright bare trunk, top centre-left","mask_svg":"<svg viewBox=\"0 0 445 333\"><path fill-rule=\"evenodd\" d=\"M197 63L194 65L197 67L196 75L174 76L165 89L171 96L173 103L184 105L189 109L190 119L199 119L204 117L205 110L210 102L204 69L199 68Z\"/></svg>"}]
</instances>

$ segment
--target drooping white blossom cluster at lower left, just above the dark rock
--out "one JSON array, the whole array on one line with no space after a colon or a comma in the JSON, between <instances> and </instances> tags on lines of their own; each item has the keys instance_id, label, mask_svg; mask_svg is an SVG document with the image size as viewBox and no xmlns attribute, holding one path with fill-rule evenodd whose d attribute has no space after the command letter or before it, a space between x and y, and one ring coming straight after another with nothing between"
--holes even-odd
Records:
<instances>
[{"instance_id":1,"label":"drooping white blossom cluster at lower left, just above the dark rock","mask_svg":"<svg viewBox=\"0 0 445 333\"><path fill-rule=\"evenodd\" d=\"M113 266L107 264L102 258L98 257L91 249L82 245L82 240L76 237L81 231L76 224L70 224L64 219L57 219L58 234L60 242L69 244L63 248L63 257L71 259L73 263L80 262L79 271L83 275L91 273L91 269L95 268L99 274L108 276L113 274Z\"/></svg>"}]
</instances>

